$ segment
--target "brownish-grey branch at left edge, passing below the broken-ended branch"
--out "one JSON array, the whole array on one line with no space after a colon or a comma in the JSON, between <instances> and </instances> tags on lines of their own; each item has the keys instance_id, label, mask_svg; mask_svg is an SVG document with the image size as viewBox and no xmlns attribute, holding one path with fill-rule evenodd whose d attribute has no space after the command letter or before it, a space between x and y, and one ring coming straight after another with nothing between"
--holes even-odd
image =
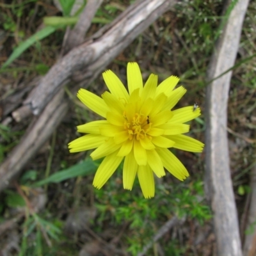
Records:
<instances>
[{"instance_id":1,"label":"brownish-grey branch at left edge, passing below the broken-ended branch","mask_svg":"<svg viewBox=\"0 0 256 256\"><path fill-rule=\"evenodd\" d=\"M34 118L24 134L19 145L0 166L0 188L5 188L17 175L21 168L28 163L45 141L51 136L54 128L60 124L68 108L68 101L63 100L63 92L58 93L44 109L39 118Z\"/></svg>"}]
</instances>

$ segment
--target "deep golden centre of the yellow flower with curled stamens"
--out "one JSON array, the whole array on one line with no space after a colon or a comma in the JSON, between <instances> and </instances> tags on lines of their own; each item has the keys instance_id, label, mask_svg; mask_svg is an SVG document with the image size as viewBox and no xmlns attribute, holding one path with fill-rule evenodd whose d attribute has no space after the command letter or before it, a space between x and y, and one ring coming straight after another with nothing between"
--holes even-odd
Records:
<instances>
[{"instance_id":1,"label":"deep golden centre of the yellow flower with curled stamens","mask_svg":"<svg viewBox=\"0 0 256 256\"><path fill-rule=\"evenodd\" d=\"M151 139L151 136L147 134L147 132L150 131L150 127L149 116L136 113L132 118L132 122L129 122L127 118L125 118L124 129L129 134L129 140L133 138L143 140L145 137Z\"/></svg>"}]
</instances>

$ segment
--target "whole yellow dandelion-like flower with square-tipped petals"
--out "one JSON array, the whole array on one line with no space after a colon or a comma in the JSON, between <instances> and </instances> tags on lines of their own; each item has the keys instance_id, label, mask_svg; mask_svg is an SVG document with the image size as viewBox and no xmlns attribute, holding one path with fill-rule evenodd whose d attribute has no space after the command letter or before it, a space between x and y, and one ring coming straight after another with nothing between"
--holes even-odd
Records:
<instances>
[{"instance_id":1,"label":"whole yellow dandelion-like flower with square-tipped petals","mask_svg":"<svg viewBox=\"0 0 256 256\"><path fill-rule=\"evenodd\" d=\"M189 131L184 123L199 116L200 108L170 110L186 93L182 86L173 90L179 78L170 76L157 86L157 76L151 74L143 86L140 67L134 62L127 65L128 92L111 70L104 72L103 78L110 92L101 98L84 89L77 93L103 120L77 126L86 135L68 144L70 152L96 148L92 159L105 157L93 186L102 188L123 159L124 188L132 189L137 174L145 198L155 193L153 172L160 178L165 168L177 179L186 179L188 171L168 148L202 152L204 144L183 135Z\"/></svg>"}]
</instances>

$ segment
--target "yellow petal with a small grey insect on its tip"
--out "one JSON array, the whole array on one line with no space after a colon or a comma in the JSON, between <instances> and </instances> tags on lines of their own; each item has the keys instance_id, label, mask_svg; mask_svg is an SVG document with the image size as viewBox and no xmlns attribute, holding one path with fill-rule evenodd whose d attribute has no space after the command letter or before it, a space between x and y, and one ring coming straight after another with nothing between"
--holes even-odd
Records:
<instances>
[{"instance_id":1,"label":"yellow petal with a small grey insect on its tip","mask_svg":"<svg viewBox=\"0 0 256 256\"><path fill-rule=\"evenodd\" d=\"M196 110L193 111L193 106L179 108L173 110L172 113L172 123L186 123L201 115L200 108L196 108Z\"/></svg>"}]
</instances>

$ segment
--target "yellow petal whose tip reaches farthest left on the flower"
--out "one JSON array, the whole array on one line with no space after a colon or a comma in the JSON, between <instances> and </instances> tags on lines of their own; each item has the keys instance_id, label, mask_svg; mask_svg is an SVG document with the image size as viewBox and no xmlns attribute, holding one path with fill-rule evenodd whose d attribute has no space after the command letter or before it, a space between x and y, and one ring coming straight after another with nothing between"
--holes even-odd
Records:
<instances>
[{"instance_id":1,"label":"yellow petal whose tip reaches farthest left on the flower","mask_svg":"<svg viewBox=\"0 0 256 256\"><path fill-rule=\"evenodd\" d=\"M104 143L106 139L107 137L101 136L99 134L84 135L68 143L68 148L70 148L69 152L74 153L97 148L99 145Z\"/></svg>"}]
</instances>

